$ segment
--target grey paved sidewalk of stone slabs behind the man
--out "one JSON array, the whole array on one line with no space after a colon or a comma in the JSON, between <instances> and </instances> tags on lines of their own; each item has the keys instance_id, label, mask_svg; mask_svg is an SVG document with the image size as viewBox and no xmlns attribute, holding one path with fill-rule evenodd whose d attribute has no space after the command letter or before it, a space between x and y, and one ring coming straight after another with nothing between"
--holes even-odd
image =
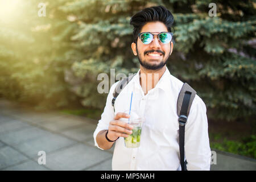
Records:
<instances>
[{"instance_id":1,"label":"grey paved sidewalk of stone slabs behind the man","mask_svg":"<svg viewBox=\"0 0 256 182\"><path fill-rule=\"evenodd\" d=\"M92 119L0 100L0 170L112 170L114 147L102 151L94 146L96 126ZM39 151L46 152L46 165L38 164ZM217 151L211 170L255 170L255 161Z\"/></svg>"}]
</instances>

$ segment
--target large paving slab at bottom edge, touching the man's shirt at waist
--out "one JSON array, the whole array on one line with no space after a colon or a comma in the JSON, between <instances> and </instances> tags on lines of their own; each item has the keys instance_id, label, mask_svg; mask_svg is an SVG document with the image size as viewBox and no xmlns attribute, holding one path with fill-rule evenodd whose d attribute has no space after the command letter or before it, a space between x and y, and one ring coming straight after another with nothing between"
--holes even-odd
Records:
<instances>
[{"instance_id":1,"label":"large paving slab at bottom edge, touching the man's shirt at waist","mask_svg":"<svg viewBox=\"0 0 256 182\"><path fill-rule=\"evenodd\" d=\"M46 166L52 170L82 170L110 158L108 152L77 144L49 155Z\"/></svg>"}]
</instances>

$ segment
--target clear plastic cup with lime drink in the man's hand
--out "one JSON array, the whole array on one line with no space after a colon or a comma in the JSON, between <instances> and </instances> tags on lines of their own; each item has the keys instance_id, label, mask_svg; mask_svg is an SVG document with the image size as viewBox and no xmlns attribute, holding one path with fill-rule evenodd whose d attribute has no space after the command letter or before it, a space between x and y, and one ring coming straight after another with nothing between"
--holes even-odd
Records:
<instances>
[{"instance_id":1,"label":"clear plastic cup with lime drink in the man's hand","mask_svg":"<svg viewBox=\"0 0 256 182\"><path fill-rule=\"evenodd\" d=\"M129 111L125 111L125 113L129 114ZM130 121L127 118L122 118L122 121L126 121L130 125L133 125L133 133L124 138L125 146L127 148L136 148L141 146L141 129L143 118L140 117L135 111L131 111Z\"/></svg>"}]
</instances>

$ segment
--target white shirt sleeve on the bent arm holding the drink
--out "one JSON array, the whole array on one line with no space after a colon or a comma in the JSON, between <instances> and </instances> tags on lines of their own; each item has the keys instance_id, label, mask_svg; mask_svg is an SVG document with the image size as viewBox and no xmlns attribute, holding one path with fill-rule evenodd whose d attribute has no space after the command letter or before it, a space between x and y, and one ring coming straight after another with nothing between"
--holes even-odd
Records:
<instances>
[{"instance_id":1,"label":"white shirt sleeve on the bent arm holding the drink","mask_svg":"<svg viewBox=\"0 0 256 182\"><path fill-rule=\"evenodd\" d=\"M118 82L115 82L109 90L108 97L106 99L106 105L104 108L103 113L101 114L101 119L98 121L98 125L93 133L93 138L94 138L94 144L96 147L100 148L98 146L98 143L96 141L97 134L101 130L108 130L109 129L109 122L114 119L114 107L112 106L112 99L113 99L113 92L115 89L115 86L117 85ZM104 150L100 148L101 150Z\"/></svg>"}]
</instances>

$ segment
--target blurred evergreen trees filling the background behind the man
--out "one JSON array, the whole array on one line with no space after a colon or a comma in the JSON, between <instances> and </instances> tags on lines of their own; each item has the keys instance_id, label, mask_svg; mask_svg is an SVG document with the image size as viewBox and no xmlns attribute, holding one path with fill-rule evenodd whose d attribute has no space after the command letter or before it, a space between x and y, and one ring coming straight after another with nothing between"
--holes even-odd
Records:
<instances>
[{"instance_id":1,"label":"blurred evergreen trees filling the background behind the man","mask_svg":"<svg viewBox=\"0 0 256 182\"><path fill-rule=\"evenodd\" d=\"M39 2L28 4L37 7ZM216 16L209 14L210 3L216 5ZM171 74L197 91L209 118L251 121L256 22L255 2L249 0L50 1L46 17L27 16L27 30L1 26L0 42L5 46L0 49L0 94L14 98L26 90L24 100L35 96L59 105L69 104L76 95L84 106L104 108L107 94L97 92L97 76L110 76L111 68L115 75L138 71L139 61L130 48L130 18L155 5L174 14L174 51L167 62ZM38 9L33 11L28 13ZM14 49L9 39L29 51Z\"/></svg>"}]
</instances>

